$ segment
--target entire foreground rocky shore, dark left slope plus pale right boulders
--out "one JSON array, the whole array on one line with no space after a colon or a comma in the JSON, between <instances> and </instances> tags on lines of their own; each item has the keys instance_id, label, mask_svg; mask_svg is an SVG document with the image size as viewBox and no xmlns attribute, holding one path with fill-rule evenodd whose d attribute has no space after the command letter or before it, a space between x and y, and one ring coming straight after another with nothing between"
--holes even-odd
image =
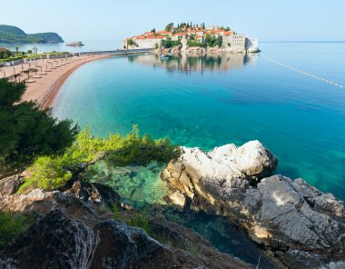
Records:
<instances>
[{"instance_id":1,"label":"entire foreground rocky shore, dark left slope plus pale right boulders","mask_svg":"<svg viewBox=\"0 0 345 269\"><path fill-rule=\"evenodd\" d=\"M161 173L171 208L227 217L277 268L345 268L344 202L302 179L272 175L278 160L259 141L181 150ZM137 212L104 184L77 176L59 190L19 194L21 184L18 174L0 180L0 210L35 221L0 248L0 268L253 268L159 210L148 216L150 235L125 224L113 206L122 217Z\"/></svg>"}]
</instances>

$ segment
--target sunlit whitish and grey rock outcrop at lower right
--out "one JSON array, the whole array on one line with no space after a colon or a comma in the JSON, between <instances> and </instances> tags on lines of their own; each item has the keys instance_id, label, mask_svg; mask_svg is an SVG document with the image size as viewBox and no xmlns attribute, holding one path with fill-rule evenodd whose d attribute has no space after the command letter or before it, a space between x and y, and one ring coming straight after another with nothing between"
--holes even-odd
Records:
<instances>
[{"instance_id":1,"label":"sunlit whitish and grey rock outcrop at lower right","mask_svg":"<svg viewBox=\"0 0 345 269\"><path fill-rule=\"evenodd\" d=\"M344 268L344 203L302 179L270 176L278 162L260 142L182 152L161 174L171 203L229 216L288 268Z\"/></svg>"}]
</instances>

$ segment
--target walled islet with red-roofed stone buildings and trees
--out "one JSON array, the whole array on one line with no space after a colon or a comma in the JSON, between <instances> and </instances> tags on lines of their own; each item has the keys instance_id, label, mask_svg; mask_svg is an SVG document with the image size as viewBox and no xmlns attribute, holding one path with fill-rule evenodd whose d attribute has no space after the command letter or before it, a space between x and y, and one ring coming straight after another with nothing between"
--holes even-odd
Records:
<instances>
[{"instance_id":1,"label":"walled islet with red-roofed stone buildings and trees","mask_svg":"<svg viewBox=\"0 0 345 269\"><path fill-rule=\"evenodd\" d=\"M192 25L182 23L166 25L164 30L155 28L143 35L135 35L123 41L123 48L153 48L157 52L229 52L257 53L258 38L238 34L230 27Z\"/></svg>"}]
</instances>

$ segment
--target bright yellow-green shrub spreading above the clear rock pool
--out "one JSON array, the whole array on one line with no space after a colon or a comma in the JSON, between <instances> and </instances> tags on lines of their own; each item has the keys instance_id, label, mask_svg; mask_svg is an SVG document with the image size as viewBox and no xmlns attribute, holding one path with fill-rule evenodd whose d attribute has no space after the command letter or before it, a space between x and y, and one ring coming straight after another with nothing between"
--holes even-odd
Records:
<instances>
[{"instance_id":1,"label":"bright yellow-green shrub spreading above the clear rock pool","mask_svg":"<svg viewBox=\"0 0 345 269\"><path fill-rule=\"evenodd\" d=\"M94 137L86 129L76 136L64 154L36 158L19 192L34 187L57 189L71 179L75 167L94 164L101 159L110 166L145 165L153 161L167 163L179 154L169 139L153 140L148 135L141 136L136 125L129 134L111 134L108 139Z\"/></svg>"}]
</instances>

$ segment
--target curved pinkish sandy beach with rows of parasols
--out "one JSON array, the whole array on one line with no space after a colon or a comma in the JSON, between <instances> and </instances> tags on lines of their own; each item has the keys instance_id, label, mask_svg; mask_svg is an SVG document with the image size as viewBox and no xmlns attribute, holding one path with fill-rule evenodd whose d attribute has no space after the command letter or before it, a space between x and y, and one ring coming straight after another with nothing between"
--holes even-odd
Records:
<instances>
[{"instance_id":1,"label":"curved pinkish sandy beach with rows of parasols","mask_svg":"<svg viewBox=\"0 0 345 269\"><path fill-rule=\"evenodd\" d=\"M30 64L2 67L3 72L0 78L11 76L27 70L29 68L37 69L37 73L30 73L30 79L26 74L22 74L17 81L26 79L26 91L23 95L23 101L35 101L43 108L51 107L54 103L54 97L57 95L64 81L80 66L109 57L109 55L83 55L74 56L68 59L50 59L37 60Z\"/></svg>"}]
</instances>

